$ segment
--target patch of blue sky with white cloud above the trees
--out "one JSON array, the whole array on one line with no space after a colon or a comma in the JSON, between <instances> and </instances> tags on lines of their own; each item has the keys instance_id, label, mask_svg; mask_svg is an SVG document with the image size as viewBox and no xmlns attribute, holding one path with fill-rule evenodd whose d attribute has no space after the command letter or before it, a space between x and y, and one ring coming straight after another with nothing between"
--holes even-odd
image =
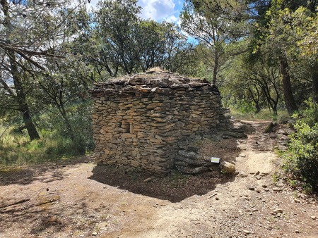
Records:
<instances>
[{"instance_id":1,"label":"patch of blue sky with white cloud above the trees","mask_svg":"<svg viewBox=\"0 0 318 238\"><path fill-rule=\"evenodd\" d=\"M90 4L95 5L97 2L98 0L92 0ZM141 18L179 23L183 0L139 0L138 5L143 8Z\"/></svg>"}]
</instances>

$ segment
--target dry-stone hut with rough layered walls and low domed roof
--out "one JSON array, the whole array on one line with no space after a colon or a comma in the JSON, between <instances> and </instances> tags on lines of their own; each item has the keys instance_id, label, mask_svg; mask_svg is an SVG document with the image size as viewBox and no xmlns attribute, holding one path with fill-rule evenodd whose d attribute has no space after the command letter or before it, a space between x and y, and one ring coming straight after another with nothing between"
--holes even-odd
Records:
<instances>
[{"instance_id":1,"label":"dry-stone hut with rough layered walls and low domed roof","mask_svg":"<svg viewBox=\"0 0 318 238\"><path fill-rule=\"evenodd\" d=\"M99 164L169 173L179 142L230 124L218 88L206 80L153 71L95 84L90 93Z\"/></svg>"}]
</instances>

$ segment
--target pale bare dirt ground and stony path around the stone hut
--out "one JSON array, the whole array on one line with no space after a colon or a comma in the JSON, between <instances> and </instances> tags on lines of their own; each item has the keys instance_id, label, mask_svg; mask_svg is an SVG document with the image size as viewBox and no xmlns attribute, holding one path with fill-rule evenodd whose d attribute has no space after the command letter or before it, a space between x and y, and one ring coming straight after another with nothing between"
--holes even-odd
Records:
<instances>
[{"instance_id":1,"label":"pale bare dirt ground and stony path around the stone hut","mask_svg":"<svg viewBox=\"0 0 318 238\"><path fill-rule=\"evenodd\" d=\"M314 196L277 179L268 122L206 143L237 175L152 177L90 158L0 170L0 237L318 237Z\"/></svg>"}]
</instances>

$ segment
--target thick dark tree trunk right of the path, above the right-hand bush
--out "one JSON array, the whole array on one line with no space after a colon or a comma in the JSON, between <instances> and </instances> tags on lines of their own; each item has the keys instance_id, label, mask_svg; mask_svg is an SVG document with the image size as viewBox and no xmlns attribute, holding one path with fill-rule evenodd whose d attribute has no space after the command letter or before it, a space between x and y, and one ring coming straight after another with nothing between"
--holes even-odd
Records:
<instances>
[{"instance_id":1,"label":"thick dark tree trunk right of the path, above the right-hand bush","mask_svg":"<svg viewBox=\"0 0 318 238\"><path fill-rule=\"evenodd\" d=\"M280 62L281 74L283 75L283 94L285 99L285 105L289 115L292 115L295 111L298 111L298 106L295 103L293 96L293 90L290 82L290 75L288 73L288 63L284 59Z\"/></svg>"}]
</instances>

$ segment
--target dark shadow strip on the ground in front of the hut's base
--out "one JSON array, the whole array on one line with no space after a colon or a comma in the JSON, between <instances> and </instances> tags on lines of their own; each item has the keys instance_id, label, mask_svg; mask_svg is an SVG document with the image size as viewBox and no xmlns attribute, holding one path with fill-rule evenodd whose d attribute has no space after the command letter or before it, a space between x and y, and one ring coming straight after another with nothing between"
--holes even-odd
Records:
<instances>
[{"instance_id":1,"label":"dark shadow strip on the ground in front of the hut's base","mask_svg":"<svg viewBox=\"0 0 318 238\"><path fill-rule=\"evenodd\" d=\"M145 173L126 172L124 168L97 165L93 169L93 175L88 178L135 194L179 202L189 196L206 194L215 189L216 184L230 182L235 176L218 171L200 175L182 175L175 171L165 177L155 177Z\"/></svg>"}]
</instances>

